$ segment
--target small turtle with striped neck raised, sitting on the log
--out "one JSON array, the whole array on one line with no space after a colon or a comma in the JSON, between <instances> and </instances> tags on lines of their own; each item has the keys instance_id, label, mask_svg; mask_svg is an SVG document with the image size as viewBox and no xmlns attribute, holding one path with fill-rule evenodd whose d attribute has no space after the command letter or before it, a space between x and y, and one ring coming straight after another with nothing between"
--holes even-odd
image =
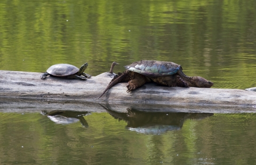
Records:
<instances>
[{"instance_id":1,"label":"small turtle with striped neck raised, sitting on the log","mask_svg":"<svg viewBox=\"0 0 256 165\"><path fill-rule=\"evenodd\" d=\"M77 68L74 65L70 64L55 64L48 68L46 72L44 72L40 77L42 80L46 79L47 75L62 77L66 79L79 79L86 80L86 78L91 78L91 75L84 73L88 64L85 63L81 66L81 68ZM81 75L85 76L81 77Z\"/></svg>"}]
</instances>

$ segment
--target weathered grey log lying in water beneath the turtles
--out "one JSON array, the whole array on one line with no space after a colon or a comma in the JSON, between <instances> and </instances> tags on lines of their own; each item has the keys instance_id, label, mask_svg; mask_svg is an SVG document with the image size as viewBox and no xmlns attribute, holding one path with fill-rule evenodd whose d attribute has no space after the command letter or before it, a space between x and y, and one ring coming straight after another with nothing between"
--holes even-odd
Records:
<instances>
[{"instance_id":1,"label":"weathered grey log lying in water beneath the turtles","mask_svg":"<svg viewBox=\"0 0 256 165\"><path fill-rule=\"evenodd\" d=\"M46 80L41 80L41 74L0 71L0 99L2 101L7 99L9 102L10 100L16 100L18 102L17 107L19 107L19 104L28 102L28 100L34 102L34 104L36 102L39 105L43 103L38 109L40 107L44 108L46 106L44 105L45 102L60 102L60 105L63 102L69 102L69 109L75 109L70 107L77 105L81 105L80 108L83 108L83 105L91 103L97 105L96 108L92 106L97 111L97 109L103 110L98 106L98 103L105 104L105 102L108 102L110 106L122 103L123 106L119 106L129 108L129 105L135 105L135 107L139 107L142 110L155 108L155 110L166 111L172 109L171 111L223 112L228 109L227 112L234 110L237 112L256 112L256 93L253 91L180 88L148 83L135 91L127 93L126 83L119 83L107 91L101 99L98 99L111 81L111 78L93 76L91 79L81 81L49 76ZM58 103L54 106L58 107ZM175 107L178 107L179 110L175 109ZM180 110L180 107L185 108ZM191 109L191 107L194 107L194 109ZM90 108L90 106L87 106L87 108Z\"/></svg>"}]
</instances>

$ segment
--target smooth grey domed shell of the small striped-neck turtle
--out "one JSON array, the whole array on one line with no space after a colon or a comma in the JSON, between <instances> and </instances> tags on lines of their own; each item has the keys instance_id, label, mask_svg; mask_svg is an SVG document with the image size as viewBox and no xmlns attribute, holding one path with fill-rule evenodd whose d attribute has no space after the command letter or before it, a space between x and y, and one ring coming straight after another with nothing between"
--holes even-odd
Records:
<instances>
[{"instance_id":1,"label":"smooth grey domed shell of the small striped-neck turtle","mask_svg":"<svg viewBox=\"0 0 256 165\"><path fill-rule=\"evenodd\" d=\"M47 73L54 76L68 76L76 74L79 71L74 65L70 64L55 64L48 68Z\"/></svg>"}]
</instances>

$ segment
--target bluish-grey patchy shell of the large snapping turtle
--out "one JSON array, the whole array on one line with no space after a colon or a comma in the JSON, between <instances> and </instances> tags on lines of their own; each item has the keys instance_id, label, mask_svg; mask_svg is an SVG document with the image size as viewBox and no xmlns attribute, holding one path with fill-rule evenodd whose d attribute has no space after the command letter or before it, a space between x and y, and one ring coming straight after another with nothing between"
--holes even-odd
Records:
<instances>
[{"instance_id":1,"label":"bluish-grey patchy shell of the large snapping turtle","mask_svg":"<svg viewBox=\"0 0 256 165\"><path fill-rule=\"evenodd\" d=\"M134 62L131 65L124 67L129 71L137 72L146 76L173 75L181 68L178 64L157 60L140 60L139 62Z\"/></svg>"}]
</instances>

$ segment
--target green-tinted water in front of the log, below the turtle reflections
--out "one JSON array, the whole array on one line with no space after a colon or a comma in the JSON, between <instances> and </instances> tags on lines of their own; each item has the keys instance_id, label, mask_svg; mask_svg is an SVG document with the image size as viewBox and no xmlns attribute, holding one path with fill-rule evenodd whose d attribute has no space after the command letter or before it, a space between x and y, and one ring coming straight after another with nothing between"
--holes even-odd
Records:
<instances>
[{"instance_id":1,"label":"green-tinted water in front of the log, below the turtle reflections","mask_svg":"<svg viewBox=\"0 0 256 165\"><path fill-rule=\"evenodd\" d=\"M41 114L0 114L2 164L253 164L255 114L187 119L180 130L146 135L107 113L55 124ZM22 147L23 146L23 147Z\"/></svg>"}]
</instances>

